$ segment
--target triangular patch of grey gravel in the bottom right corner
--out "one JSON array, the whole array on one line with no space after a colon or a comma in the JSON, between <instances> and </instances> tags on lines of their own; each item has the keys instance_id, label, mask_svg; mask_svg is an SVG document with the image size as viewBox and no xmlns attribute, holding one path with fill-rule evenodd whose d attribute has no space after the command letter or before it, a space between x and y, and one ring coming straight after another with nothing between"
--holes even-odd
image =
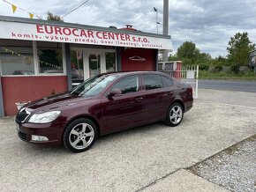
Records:
<instances>
[{"instance_id":1,"label":"triangular patch of grey gravel in the bottom right corner","mask_svg":"<svg viewBox=\"0 0 256 192\"><path fill-rule=\"evenodd\" d=\"M189 170L231 191L256 191L256 135Z\"/></svg>"}]
</instances>

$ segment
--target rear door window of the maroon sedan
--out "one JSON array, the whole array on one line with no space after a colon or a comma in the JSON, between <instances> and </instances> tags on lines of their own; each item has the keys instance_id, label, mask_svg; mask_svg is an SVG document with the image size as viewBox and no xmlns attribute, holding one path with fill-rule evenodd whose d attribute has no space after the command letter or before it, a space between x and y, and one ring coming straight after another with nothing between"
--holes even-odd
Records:
<instances>
[{"instance_id":1,"label":"rear door window of the maroon sedan","mask_svg":"<svg viewBox=\"0 0 256 192\"><path fill-rule=\"evenodd\" d=\"M162 88L162 79L159 75L143 75L146 90Z\"/></svg>"}]
</instances>

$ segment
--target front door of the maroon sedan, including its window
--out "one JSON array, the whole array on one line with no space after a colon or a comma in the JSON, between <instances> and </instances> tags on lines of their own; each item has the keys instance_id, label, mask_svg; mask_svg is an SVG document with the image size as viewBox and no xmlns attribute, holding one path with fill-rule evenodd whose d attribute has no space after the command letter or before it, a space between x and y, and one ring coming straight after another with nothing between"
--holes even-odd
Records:
<instances>
[{"instance_id":1,"label":"front door of the maroon sedan, including its window","mask_svg":"<svg viewBox=\"0 0 256 192\"><path fill-rule=\"evenodd\" d=\"M107 94L112 89L122 91L121 96L108 99ZM139 124L143 119L143 105L141 103L143 95L140 90L140 80L138 75L121 78L102 97L102 116L104 118L104 128L106 132L116 129L124 129Z\"/></svg>"}]
</instances>

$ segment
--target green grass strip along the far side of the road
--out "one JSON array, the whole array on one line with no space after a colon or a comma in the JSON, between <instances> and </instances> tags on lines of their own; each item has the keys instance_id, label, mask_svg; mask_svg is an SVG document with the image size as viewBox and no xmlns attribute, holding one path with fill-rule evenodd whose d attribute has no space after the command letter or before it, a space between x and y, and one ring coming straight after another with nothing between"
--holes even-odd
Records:
<instances>
[{"instance_id":1,"label":"green grass strip along the far side of the road","mask_svg":"<svg viewBox=\"0 0 256 192\"><path fill-rule=\"evenodd\" d=\"M245 73L229 73L229 72L210 72L206 70L200 70L199 78L203 79L237 79L237 80L256 80L254 71L248 71Z\"/></svg>"}]
</instances>

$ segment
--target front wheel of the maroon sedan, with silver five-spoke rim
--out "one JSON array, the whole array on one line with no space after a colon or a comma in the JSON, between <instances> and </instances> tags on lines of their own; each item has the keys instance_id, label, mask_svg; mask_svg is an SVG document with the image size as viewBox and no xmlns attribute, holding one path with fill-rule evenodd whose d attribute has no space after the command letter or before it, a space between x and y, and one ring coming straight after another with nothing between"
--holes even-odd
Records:
<instances>
[{"instance_id":1,"label":"front wheel of the maroon sedan, with silver five-spoke rim","mask_svg":"<svg viewBox=\"0 0 256 192\"><path fill-rule=\"evenodd\" d=\"M79 118L64 129L64 147L73 152L87 151L94 144L96 137L95 123L87 118Z\"/></svg>"}]
</instances>

